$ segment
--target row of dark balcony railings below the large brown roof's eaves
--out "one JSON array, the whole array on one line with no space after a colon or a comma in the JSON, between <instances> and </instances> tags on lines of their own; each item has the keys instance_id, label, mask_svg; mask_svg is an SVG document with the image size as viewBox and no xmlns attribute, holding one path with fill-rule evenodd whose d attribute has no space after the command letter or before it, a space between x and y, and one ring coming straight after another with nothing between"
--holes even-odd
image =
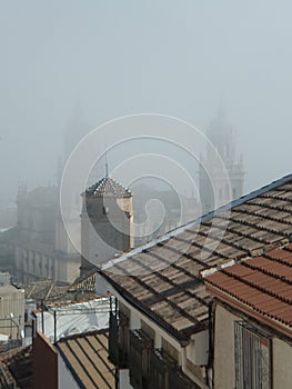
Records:
<instances>
[{"instance_id":1,"label":"row of dark balcony railings below the large brown roof's eaves","mask_svg":"<svg viewBox=\"0 0 292 389\"><path fill-rule=\"evenodd\" d=\"M133 389L197 389L163 349L154 349L153 340L142 330L129 330L129 318L110 313L109 355L118 368L130 369Z\"/></svg>"}]
</instances>

